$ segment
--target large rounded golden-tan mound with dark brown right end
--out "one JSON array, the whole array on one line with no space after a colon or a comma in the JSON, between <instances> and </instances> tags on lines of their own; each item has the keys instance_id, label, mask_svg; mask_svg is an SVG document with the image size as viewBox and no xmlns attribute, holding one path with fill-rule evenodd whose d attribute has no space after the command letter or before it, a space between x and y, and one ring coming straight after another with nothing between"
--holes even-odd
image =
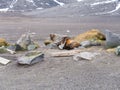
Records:
<instances>
[{"instance_id":1,"label":"large rounded golden-tan mound with dark brown right end","mask_svg":"<svg viewBox=\"0 0 120 90\"><path fill-rule=\"evenodd\" d=\"M79 34L78 36L74 37L74 40L78 43L81 43L86 40L105 40L106 37L97 29L89 30L85 33Z\"/></svg>"}]
</instances>

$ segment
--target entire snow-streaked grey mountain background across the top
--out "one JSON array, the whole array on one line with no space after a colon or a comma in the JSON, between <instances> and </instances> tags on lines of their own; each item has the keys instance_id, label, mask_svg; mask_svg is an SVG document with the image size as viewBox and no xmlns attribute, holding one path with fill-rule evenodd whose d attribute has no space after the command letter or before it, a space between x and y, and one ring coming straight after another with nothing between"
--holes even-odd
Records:
<instances>
[{"instance_id":1,"label":"entire snow-streaked grey mountain background across the top","mask_svg":"<svg viewBox=\"0 0 120 90\"><path fill-rule=\"evenodd\" d=\"M0 11L37 17L120 15L120 0L0 0Z\"/></svg>"}]
</instances>

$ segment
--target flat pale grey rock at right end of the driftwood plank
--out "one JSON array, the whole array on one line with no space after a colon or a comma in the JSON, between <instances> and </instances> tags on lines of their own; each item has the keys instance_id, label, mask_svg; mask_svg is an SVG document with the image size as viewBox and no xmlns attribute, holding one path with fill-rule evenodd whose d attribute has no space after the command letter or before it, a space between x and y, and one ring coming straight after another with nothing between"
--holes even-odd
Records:
<instances>
[{"instance_id":1,"label":"flat pale grey rock at right end of the driftwood plank","mask_svg":"<svg viewBox=\"0 0 120 90\"><path fill-rule=\"evenodd\" d=\"M73 60L92 60L97 55L100 55L100 53L92 53L92 52L80 52L79 54L76 54L73 56Z\"/></svg>"}]
</instances>

